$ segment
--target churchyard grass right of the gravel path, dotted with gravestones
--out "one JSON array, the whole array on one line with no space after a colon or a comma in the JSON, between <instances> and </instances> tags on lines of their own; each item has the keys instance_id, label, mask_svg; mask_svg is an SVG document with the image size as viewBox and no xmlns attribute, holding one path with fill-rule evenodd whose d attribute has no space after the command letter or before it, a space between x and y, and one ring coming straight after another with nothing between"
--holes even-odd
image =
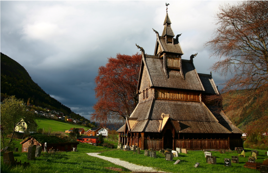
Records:
<instances>
[{"instance_id":1,"label":"churchyard grass right of the gravel path, dotted with gravestones","mask_svg":"<svg viewBox=\"0 0 268 173\"><path fill-rule=\"evenodd\" d=\"M150 166L158 168L159 170L166 171L166 172L248 172L248 173L257 173L259 171L244 168L245 162L248 160L248 156L251 155L251 150L247 149L246 156L247 157L239 157L239 164L232 163L232 167L225 167L224 166L224 158L230 158L231 156L238 156L236 151L226 152L226 154L220 154L219 152L212 152L212 156L217 157L217 164L207 164L205 154L203 151L188 151L188 154L179 154L179 157L174 158L172 161L165 160L164 155L159 152L157 153L157 158L151 158L144 156L144 150L141 150L141 154L134 154L133 151L123 151L123 150L114 150L114 151L107 151L103 152L100 155L113 157L113 158L120 158L121 160L125 160L137 165L142 166ZM259 156L257 162L263 162L263 159L267 158L265 156L265 150L258 150ZM180 163L174 165L176 160L181 160ZM197 168L194 168L194 164L199 162L200 165Z\"/></svg>"}]
</instances>

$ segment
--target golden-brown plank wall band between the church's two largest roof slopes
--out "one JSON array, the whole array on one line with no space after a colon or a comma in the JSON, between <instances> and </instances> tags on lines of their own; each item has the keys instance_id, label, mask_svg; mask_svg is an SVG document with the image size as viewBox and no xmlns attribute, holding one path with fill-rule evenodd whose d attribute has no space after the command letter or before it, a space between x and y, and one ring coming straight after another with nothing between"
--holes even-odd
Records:
<instances>
[{"instance_id":1,"label":"golden-brown plank wall band between the church's two largest roof slopes","mask_svg":"<svg viewBox=\"0 0 268 173\"><path fill-rule=\"evenodd\" d=\"M200 93L199 92L156 89L155 90L155 98L161 99L161 100L178 100L178 101L200 102Z\"/></svg>"}]
</instances>

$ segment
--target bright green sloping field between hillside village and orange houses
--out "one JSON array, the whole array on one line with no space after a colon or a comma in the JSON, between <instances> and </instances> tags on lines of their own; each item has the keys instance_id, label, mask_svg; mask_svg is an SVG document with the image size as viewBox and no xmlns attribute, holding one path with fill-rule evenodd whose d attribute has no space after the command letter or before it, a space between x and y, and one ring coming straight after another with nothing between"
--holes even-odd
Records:
<instances>
[{"instance_id":1,"label":"bright green sloping field between hillside village and orange houses","mask_svg":"<svg viewBox=\"0 0 268 173\"><path fill-rule=\"evenodd\" d=\"M74 125L69 122L65 121L56 121L49 118L37 118L36 120L37 128L44 128L45 130L48 130L50 127L52 131L60 131L64 132L65 130L70 130L70 128L84 128L85 131L87 131L88 127L80 126L80 125Z\"/></svg>"}]
</instances>

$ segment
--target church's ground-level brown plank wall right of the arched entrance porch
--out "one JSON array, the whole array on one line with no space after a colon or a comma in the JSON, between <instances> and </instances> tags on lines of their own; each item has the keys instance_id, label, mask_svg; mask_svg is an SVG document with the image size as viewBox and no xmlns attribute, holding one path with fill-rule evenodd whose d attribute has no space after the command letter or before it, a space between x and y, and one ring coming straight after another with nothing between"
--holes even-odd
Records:
<instances>
[{"instance_id":1,"label":"church's ground-level brown plank wall right of the arched entrance porch","mask_svg":"<svg viewBox=\"0 0 268 173\"><path fill-rule=\"evenodd\" d=\"M189 150L229 149L228 139L176 139L176 147Z\"/></svg>"}]
</instances>

